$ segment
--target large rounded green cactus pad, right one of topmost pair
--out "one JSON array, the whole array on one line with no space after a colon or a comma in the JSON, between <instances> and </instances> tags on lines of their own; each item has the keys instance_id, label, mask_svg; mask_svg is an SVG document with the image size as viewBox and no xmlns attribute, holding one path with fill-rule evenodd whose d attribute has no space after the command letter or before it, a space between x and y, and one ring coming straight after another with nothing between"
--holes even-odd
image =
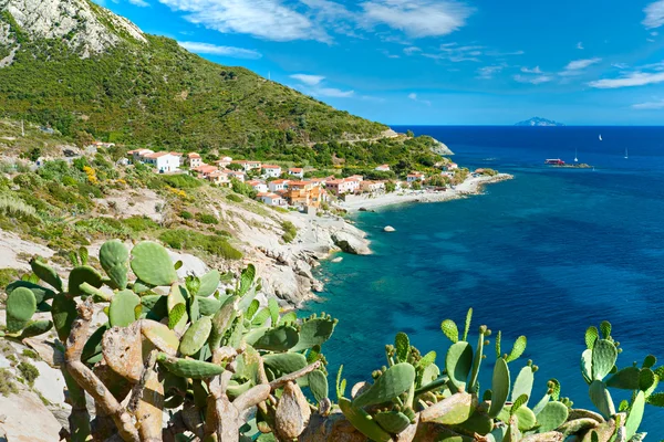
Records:
<instances>
[{"instance_id":1,"label":"large rounded green cactus pad, right one of topmost pair","mask_svg":"<svg viewBox=\"0 0 664 442\"><path fill-rule=\"evenodd\" d=\"M143 241L132 249L132 270L136 276L152 285L172 285L177 273L166 249L156 242Z\"/></svg>"}]
</instances>

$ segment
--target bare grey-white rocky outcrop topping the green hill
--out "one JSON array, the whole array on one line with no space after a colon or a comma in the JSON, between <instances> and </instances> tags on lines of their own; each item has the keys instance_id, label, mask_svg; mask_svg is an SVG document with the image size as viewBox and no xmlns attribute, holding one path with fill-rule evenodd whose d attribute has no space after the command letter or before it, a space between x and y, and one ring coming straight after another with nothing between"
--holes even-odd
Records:
<instances>
[{"instance_id":1,"label":"bare grey-white rocky outcrop topping the green hill","mask_svg":"<svg viewBox=\"0 0 664 442\"><path fill-rule=\"evenodd\" d=\"M23 32L32 38L59 39L82 57L104 52L123 40L147 42L127 19L85 0L0 0ZM0 44L13 44L0 28Z\"/></svg>"}]
</instances>

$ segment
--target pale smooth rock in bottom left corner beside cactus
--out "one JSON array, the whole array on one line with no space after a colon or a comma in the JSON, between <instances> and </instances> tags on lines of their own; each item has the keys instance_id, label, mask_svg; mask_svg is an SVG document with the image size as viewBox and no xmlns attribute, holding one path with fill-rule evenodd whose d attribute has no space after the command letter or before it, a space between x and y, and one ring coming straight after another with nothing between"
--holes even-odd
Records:
<instances>
[{"instance_id":1,"label":"pale smooth rock in bottom left corner beside cactus","mask_svg":"<svg viewBox=\"0 0 664 442\"><path fill-rule=\"evenodd\" d=\"M0 410L7 417L0 424L11 442L53 442L60 440L60 422L34 394L25 389L9 398L0 394Z\"/></svg>"}]
</instances>

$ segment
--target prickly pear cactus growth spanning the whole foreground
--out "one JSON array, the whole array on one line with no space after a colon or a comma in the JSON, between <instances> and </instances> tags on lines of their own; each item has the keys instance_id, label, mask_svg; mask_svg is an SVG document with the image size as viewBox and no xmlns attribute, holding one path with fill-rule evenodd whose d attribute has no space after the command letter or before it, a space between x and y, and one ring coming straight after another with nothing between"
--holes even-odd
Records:
<instances>
[{"instance_id":1,"label":"prickly pear cactus growth spanning the whole foreground","mask_svg":"<svg viewBox=\"0 0 664 442\"><path fill-rule=\"evenodd\" d=\"M419 351L398 333L385 346L385 361L376 361L385 366L371 373L373 382L347 388L342 367L330 389L334 375L322 351L336 320L326 315L298 319L294 313L281 313L274 299L261 308L252 265L230 281L235 288L220 294L219 272L178 281L166 250L153 242L129 252L110 241L98 261L105 276L77 266L64 292L53 269L33 260L42 284L17 281L8 290L7 338L40 335L54 325L66 343L62 369L71 380L71 433L80 440L117 434L125 441L155 441L184 434L189 440L263 442L641 441L646 406L664 406L664 392L657 391L664 367L655 367L656 358L649 355L640 366L618 368L622 349L606 322L588 328L581 355L581 376L596 411L574 408L556 379L536 389L538 367L517 362L526 351L525 336L505 348L498 332L495 359L483 365L492 352L492 333L481 325L477 345L470 344L471 309L463 328L452 319L442 323L450 340L444 358ZM128 281L129 266L136 281ZM104 284L112 294L100 290ZM168 295L155 295L155 286ZM76 302L79 296L86 298ZM52 304L53 322L33 322L45 301ZM94 303L107 308L110 318L96 329ZM478 379L487 366L491 385L481 389ZM6 379L11 377L0 376L2 386ZM627 398L618 406L610 393L615 390ZM85 392L111 412L91 422ZM180 406L198 423L180 420ZM255 412L245 413L253 407ZM165 414L165 409L172 412ZM164 415L170 421L163 422Z\"/></svg>"}]
</instances>

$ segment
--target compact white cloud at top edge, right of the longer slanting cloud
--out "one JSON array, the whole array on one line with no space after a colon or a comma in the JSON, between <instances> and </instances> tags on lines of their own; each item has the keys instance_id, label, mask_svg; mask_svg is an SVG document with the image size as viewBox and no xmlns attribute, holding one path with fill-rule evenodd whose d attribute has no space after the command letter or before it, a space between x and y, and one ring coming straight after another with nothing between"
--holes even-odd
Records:
<instances>
[{"instance_id":1,"label":"compact white cloud at top edge, right of the longer slanting cloud","mask_svg":"<svg viewBox=\"0 0 664 442\"><path fill-rule=\"evenodd\" d=\"M370 0L360 6L365 27L386 24L412 38L447 35L464 27L474 12L450 0Z\"/></svg>"}]
</instances>

